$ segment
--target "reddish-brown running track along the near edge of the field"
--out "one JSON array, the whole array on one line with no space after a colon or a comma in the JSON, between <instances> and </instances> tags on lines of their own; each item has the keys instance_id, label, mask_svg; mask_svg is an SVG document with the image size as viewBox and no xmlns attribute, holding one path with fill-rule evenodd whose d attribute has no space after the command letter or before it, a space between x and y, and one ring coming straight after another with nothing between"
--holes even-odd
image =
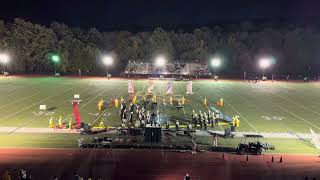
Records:
<instances>
[{"instance_id":1,"label":"reddish-brown running track along the near edge of the field","mask_svg":"<svg viewBox=\"0 0 320 180\"><path fill-rule=\"evenodd\" d=\"M37 149L0 148L0 172L16 174L24 168L33 179L45 180L57 175L72 179L74 172L84 178L182 180L192 179L320 179L320 158L308 155L238 156L221 153L163 152L159 150ZM15 178L14 178L15 179Z\"/></svg>"}]
</instances>

